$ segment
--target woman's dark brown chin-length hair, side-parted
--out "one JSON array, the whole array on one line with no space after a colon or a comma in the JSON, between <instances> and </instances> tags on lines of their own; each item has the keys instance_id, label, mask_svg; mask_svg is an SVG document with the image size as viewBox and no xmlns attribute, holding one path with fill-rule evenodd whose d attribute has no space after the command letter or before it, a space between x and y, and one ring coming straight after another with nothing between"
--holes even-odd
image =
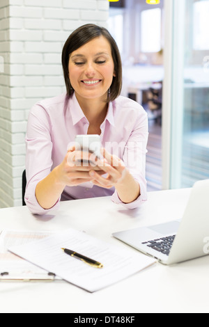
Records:
<instances>
[{"instance_id":1,"label":"woman's dark brown chin-length hair, side-parted","mask_svg":"<svg viewBox=\"0 0 209 327\"><path fill-rule=\"evenodd\" d=\"M63 74L65 78L67 94L70 97L74 93L74 90L70 84L69 71L68 71L70 54L72 54L73 51L79 49L79 47L85 45L87 42L93 40L94 38L98 38L101 35L104 36L104 38L106 38L109 41L109 44L111 45L111 56L114 61L114 72L116 74L116 77L113 78L113 81L111 83L110 94L107 98L107 102L113 101L114 99L116 99L116 97L118 97L118 95L120 95L121 88L122 88L122 63L121 63L121 55L118 50L116 41L111 36L109 31L107 31L107 29L105 29L104 27L100 27L95 24L86 24L80 26L78 29L72 32L72 34L70 34L68 40L66 40L65 45L63 47L63 53L62 53Z\"/></svg>"}]
</instances>

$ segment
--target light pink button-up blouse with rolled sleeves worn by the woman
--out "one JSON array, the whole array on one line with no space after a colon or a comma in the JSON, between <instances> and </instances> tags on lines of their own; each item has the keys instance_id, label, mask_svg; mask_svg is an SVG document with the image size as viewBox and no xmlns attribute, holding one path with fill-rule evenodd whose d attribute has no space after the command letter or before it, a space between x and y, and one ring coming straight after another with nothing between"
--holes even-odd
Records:
<instances>
[{"instance_id":1,"label":"light pink button-up blouse with rolled sleeves worn by the woman","mask_svg":"<svg viewBox=\"0 0 209 327\"><path fill-rule=\"evenodd\" d=\"M77 134L87 134L88 120L75 94L70 98L59 95L35 104L30 113L26 131L26 193L25 202L33 214L45 214L59 207L60 200L75 200L111 196L111 200L128 209L147 200L146 145L148 119L144 109L126 97L109 103L107 116L102 122L101 143L111 154L120 157L139 182L141 195L129 204L121 202L114 188L104 189L91 182L80 186L66 186L61 198L51 209L43 209L36 200L36 185L64 159L69 143Z\"/></svg>"}]
</instances>

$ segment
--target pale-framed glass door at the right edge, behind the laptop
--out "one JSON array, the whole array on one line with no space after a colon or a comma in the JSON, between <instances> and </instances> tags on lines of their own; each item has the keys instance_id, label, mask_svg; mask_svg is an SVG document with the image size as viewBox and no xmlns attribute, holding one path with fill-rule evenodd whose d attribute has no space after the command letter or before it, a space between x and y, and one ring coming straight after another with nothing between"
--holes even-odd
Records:
<instances>
[{"instance_id":1,"label":"pale-framed glass door at the right edge, behind the laptop","mask_svg":"<svg viewBox=\"0 0 209 327\"><path fill-rule=\"evenodd\" d=\"M172 0L167 13L164 186L176 189L209 178L209 0Z\"/></svg>"}]
</instances>

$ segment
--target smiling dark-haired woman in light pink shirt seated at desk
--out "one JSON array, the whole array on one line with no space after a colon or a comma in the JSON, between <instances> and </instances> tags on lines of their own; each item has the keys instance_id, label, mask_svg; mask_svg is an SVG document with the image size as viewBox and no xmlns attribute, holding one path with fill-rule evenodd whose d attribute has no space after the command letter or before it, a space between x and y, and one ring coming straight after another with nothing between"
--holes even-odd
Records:
<instances>
[{"instance_id":1,"label":"smiling dark-haired woman in light pink shirt seated at desk","mask_svg":"<svg viewBox=\"0 0 209 327\"><path fill-rule=\"evenodd\" d=\"M107 29L86 24L65 42L62 54L67 94L32 107L26 131L26 205L33 214L60 200L111 196L129 209L146 200L148 120L144 109L119 96L121 57ZM69 164L82 157L68 144L78 134L98 134L96 166Z\"/></svg>"}]
</instances>

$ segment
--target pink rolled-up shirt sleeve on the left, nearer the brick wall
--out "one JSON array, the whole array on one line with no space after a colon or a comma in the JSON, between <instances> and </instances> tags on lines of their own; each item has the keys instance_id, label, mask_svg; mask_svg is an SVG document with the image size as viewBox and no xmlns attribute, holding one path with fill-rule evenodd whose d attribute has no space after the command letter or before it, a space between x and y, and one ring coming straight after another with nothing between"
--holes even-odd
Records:
<instances>
[{"instance_id":1,"label":"pink rolled-up shirt sleeve on the left, nearer the brick wall","mask_svg":"<svg viewBox=\"0 0 209 327\"><path fill-rule=\"evenodd\" d=\"M36 199L36 186L52 169L52 133L47 111L36 104L29 113L26 130L26 193L24 200L33 214L46 214ZM60 199L59 199L60 200ZM59 200L54 209L59 207ZM51 208L52 209L52 208Z\"/></svg>"}]
</instances>

